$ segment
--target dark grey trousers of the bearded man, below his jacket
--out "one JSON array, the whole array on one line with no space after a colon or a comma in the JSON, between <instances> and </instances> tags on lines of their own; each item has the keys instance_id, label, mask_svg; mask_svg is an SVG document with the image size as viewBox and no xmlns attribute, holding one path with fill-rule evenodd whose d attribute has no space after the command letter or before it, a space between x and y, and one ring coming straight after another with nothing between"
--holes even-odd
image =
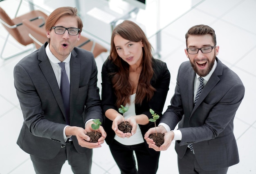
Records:
<instances>
[{"instance_id":1,"label":"dark grey trousers of the bearded man, below his jacket","mask_svg":"<svg viewBox=\"0 0 256 174\"><path fill-rule=\"evenodd\" d=\"M186 149L186 153L183 158L178 157L178 167L180 174L227 174L227 170L229 168L226 167L213 171L203 170L196 161L195 155L189 148Z\"/></svg>"}]
</instances>

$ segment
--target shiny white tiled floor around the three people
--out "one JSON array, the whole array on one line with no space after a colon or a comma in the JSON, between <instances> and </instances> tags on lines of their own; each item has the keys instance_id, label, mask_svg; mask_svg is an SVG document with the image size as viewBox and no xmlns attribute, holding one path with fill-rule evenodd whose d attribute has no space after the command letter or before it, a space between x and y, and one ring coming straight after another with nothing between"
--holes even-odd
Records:
<instances>
[{"instance_id":1,"label":"shiny white tiled floor around the three people","mask_svg":"<svg viewBox=\"0 0 256 174\"><path fill-rule=\"evenodd\" d=\"M193 0L195 1L195 0ZM10 3L13 2L13 3ZM199 0L197 0L199 2ZM173 5L175 1L173 0ZM0 2L10 16L14 16L18 0ZM185 33L193 25L206 24L216 31L217 44L220 45L218 58L235 71L245 85L245 98L237 111L234 120L234 133L238 143L240 163L229 167L228 174L255 174L256 173L256 117L253 113L256 105L256 0L202 0L197 7L184 13L162 31L163 61L171 72L171 84L164 110L170 103L174 92L177 69L181 62L186 61L184 54ZM27 11L28 6L22 6L21 11ZM166 16L168 18L168 16ZM7 31L0 26L0 48L7 36ZM155 47L155 38L150 38ZM23 47L16 40L9 38L4 56L19 50L32 48L32 45ZM33 174L33 166L29 155L23 152L16 140L22 125L22 112L19 107L16 92L13 87L13 67L29 52L8 60L0 60L0 174ZM96 58L100 72L103 59L108 53ZM157 174L177 174L177 155L174 144L161 152ZM61 174L72 173L65 163ZM118 174L119 169L113 160L108 145L94 149L92 174Z\"/></svg>"}]
</instances>

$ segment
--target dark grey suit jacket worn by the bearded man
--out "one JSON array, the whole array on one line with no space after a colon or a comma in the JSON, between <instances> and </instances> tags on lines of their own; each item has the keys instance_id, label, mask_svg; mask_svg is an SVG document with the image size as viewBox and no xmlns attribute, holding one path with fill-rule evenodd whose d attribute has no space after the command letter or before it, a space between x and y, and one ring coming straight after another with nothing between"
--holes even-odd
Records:
<instances>
[{"instance_id":1,"label":"dark grey suit jacket worn by the bearded man","mask_svg":"<svg viewBox=\"0 0 256 174\"><path fill-rule=\"evenodd\" d=\"M179 123L182 141L176 141L179 158L193 143L195 158L204 170L217 170L239 162L233 134L234 117L244 97L240 78L216 58L218 65L193 107L195 71L189 61L180 65L175 94L160 122L174 129Z\"/></svg>"}]
</instances>

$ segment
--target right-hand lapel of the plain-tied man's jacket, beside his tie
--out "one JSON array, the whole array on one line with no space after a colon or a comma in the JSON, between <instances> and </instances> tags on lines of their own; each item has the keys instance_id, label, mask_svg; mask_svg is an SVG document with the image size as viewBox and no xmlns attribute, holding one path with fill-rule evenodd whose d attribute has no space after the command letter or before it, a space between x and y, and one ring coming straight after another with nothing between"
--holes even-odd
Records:
<instances>
[{"instance_id":1,"label":"right-hand lapel of the plain-tied man's jacket, beside his tie","mask_svg":"<svg viewBox=\"0 0 256 174\"><path fill-rule=\"evenodd\" d=\"M70 59L70 123L73 117L74 107L79 89L80 80L80 59L76 57L76 52L73 50Z\"/></svg>"}]
</instances>

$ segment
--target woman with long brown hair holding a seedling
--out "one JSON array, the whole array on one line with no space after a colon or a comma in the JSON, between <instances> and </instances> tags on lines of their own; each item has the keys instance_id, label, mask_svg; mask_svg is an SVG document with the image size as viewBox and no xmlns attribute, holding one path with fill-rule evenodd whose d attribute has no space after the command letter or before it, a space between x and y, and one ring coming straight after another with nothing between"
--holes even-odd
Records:
<instances>
[{"instance_id":1,"label":"woman with long brown hair holding a seedling","mask_svg":"<svg viewBox=\"0 0 256 174\"><path fill-rule=\"evenodd\" d=\"M102 67L101 99L106 142L122 174L156 173L160 154L149 149L143 137L154 127L148 121L152 118L149 109L162 116L169 83L166 63L153 58L141 28L129 20L117 25L112 32L110 56ZM120 105L129 107L124 117L118 112ZM130 133L117 128L124 118L132 125Z\"/></svg>"}]
</instances>

